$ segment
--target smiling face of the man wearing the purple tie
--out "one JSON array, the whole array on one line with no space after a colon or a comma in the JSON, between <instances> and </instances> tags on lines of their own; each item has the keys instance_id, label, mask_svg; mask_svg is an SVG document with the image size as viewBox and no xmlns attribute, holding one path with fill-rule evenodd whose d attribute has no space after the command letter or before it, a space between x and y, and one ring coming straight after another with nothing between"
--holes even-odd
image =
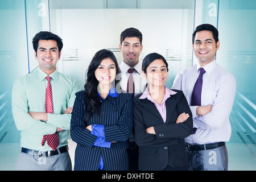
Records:
<instances>
[{"instance_id":1,"label":"smiling face of the man wearing the purple tie","mask_svg":"<svg viewBox=\"0 0 256 182\"><path fill-rule=\"evenodd\" d=\"M215 42L211 31L199 31L196 33L192 47L201 67L204 67L215 59L220 41Z\"/></svg>"}]
</instances>

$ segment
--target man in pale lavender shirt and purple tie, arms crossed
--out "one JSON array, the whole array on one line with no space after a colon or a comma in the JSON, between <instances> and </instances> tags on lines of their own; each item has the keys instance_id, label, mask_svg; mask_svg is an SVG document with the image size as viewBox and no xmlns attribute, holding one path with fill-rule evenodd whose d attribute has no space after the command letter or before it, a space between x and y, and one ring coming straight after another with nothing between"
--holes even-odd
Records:
<instances>
[{"instance_id":1,"label":"man in pale lavender shirt and purple tie, arms crossed","mask_svg":"<svg viewBox=\"0 0 256 182\"><path fill-rule=\"evenodd\" d=\"M177 74L172 89L182 90L190 105L195 133L185 139L190 170L227 170L225 142L231 135L229 114L236 93L236 80L216 63L220 47L218 30L201 24L193 32L193 51L198 63ZM192 92L199 69L204 68L200 104L192 104ZM198 93L198 91L197 91Z\"/></svg>"}]
</instances>

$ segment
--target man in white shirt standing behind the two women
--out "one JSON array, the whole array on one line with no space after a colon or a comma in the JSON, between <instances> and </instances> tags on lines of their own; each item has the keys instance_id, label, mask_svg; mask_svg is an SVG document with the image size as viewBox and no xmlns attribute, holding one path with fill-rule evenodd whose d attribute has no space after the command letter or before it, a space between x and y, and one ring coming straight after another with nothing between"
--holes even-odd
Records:
<instances>
[{"instance_id":1,"label":"man in white shirt standing behind the two women","mask_svg":"<svg viewBox=\"0 0 256 182\"><path fill-rule=\"evenodd\" d=\"M134 90L129 90L133 96L143 93L146 89L147 81L142 76L141 63L139 56L142 51L142 33L136 28L127 28L120 35L120 51L122 52L123 61L120 65L122 74L120 75L120 87L123 92L127 92L127 82L131 75L134 82ZM132 69L132 73L129 73ZM118 76L117 76L118 77ZM127 149L129 155L129 169L131 171L138 170L138 146L134 142L133 134L130 137L130 146Z\"/></svg>"}]
</instances>

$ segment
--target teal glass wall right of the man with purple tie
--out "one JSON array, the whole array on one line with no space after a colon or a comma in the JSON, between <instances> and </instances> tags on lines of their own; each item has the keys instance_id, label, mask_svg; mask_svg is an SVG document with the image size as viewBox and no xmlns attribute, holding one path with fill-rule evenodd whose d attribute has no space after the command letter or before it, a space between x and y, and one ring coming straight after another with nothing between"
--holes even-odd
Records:
<instances>
[{"instance_id":1,"label":"teal glass wall right of the man with purple tie","mask_svg":"<svg viewBox=\"0 0 256 182\"><path fill-rule=\"evenodd\" d=\"M231 142L256 143L256 2L220 1L218 30L221 47L217 61L237 81L237 92L230 122ZM247 145L250 146L250 145ZM256 154L255 145L251 151Z\"/></svg>"}]
</instances>

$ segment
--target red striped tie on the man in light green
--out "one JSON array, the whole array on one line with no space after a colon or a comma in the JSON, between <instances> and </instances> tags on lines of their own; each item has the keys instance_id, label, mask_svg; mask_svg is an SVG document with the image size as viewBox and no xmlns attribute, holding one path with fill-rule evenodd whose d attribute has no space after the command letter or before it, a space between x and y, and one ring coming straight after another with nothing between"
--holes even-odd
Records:
<instances>
[{"instance_id":1,"label":"red striped tie on the man in light green","mask_svg":"<svg viewBox=\"0 0 256 182\"><path fill-rule=\"evenodd\" d=\"M46 80L48 81L47 88L46 88L46 113L53 113L53 101L52 101L52 86L51 86L51 77L47 76ZM46 143L49 147L52 148L52 150L56 150L56 148L59 146L59 136L57 132L55 134L50 135L44 135L42 140L42 146L44 146L44 143Z\"/></svg>"}]
</instances>

